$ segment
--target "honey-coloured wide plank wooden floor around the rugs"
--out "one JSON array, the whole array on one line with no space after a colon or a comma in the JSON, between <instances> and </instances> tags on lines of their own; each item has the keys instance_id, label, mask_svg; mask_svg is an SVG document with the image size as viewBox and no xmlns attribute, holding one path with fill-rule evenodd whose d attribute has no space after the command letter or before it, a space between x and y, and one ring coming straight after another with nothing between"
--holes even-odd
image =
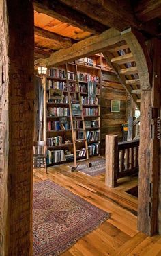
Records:
<instances>
[{"instance_id":1,"label":"honey-coloured wide plank wooden floor around the rugs","mask_svg":"<svg viewBox=\"0 0 161 256\"><path fill-rule=\"evenodd\" d=\"M137 198L125 191L136 186L136 177L122 178L119 186L104 185L104 174L91 177L70 172L67 164L48 168L48 174L34 170L33 181L50 179L91 204L111 213L111 218L98 229L78 240L63 256L161 255L161 236L147 237L137 231Z\"/></svg>"}]
</instances>

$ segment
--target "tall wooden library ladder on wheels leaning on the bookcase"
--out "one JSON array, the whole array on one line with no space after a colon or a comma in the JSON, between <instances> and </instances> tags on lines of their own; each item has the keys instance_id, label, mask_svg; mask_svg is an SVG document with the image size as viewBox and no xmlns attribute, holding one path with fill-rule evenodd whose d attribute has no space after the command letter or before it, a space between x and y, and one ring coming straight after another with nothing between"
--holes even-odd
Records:
<instances>
[{"instance_id":1,"label":"tall wooden library ladder on wheels leaning on the bookcase","mask_svg":"<svg viewBox=\"0 0 161 256\"><path fill-rule=\"evenodd\" d=\"M68 65L73 65L74 72L68 71ZM89 151L88 151L88 143L86 137L86 130L85 130L85 119L83 115L83 106L81 102L81 92L79 88L79 81L78 81L78 71L76 62L71 64L66 63L65 65L65 72L66 72L66 81L68 86L68 102L69 102L69 109L70 109L70 121L71 121L71 128L72 128L72 142L74 148L74 167L72 167L71 171L75 172L76 168L79 165L79 162L85 161L89 159ZM75 88L72 89L70 86L70 78L74 78L76 80ZM78 125L79 124L79 125ZM81 138L78 138L78 132L81 132ZM79 143L85 143L85 148L77 149L76 146ZM78 156L85 157L83 159L78 159ZM87 162L88 167L91 167L91 163Z\"/></svg>"}]
</instances>

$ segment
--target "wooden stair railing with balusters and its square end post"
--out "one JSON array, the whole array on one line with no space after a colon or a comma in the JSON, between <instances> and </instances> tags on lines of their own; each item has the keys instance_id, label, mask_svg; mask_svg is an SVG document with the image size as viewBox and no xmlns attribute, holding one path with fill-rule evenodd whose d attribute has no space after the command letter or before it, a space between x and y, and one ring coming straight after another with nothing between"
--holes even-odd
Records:
<instances>
[{"instance_id":1,"label":"wooden stair railing with balusters and its square end post","mask_svg":"<svg viewBox=\"0 0 161 256\"><path fill-rule=\"evenodd\" d=\"M117 135L106 135L106 180L116 187L117 179L138 172L139 140L118 143Z\"/></svg>"}]
</instances>

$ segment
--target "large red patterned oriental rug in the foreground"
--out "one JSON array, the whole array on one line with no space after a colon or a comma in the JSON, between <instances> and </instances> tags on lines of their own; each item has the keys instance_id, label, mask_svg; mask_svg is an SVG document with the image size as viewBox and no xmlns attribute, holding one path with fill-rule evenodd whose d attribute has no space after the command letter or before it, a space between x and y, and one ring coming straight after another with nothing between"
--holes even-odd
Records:
<instances>
[{"instance_id":1,"label":"large red patterned oriental rug in the foreground","mask_svg":"<svg viewBox=\"0 0 161 256\"><path fill-rule=\"evenodd\" d=\"M60 255L109 218L67 189L42 181L33 185L33 255Z\"/></svg>"}]
</instances>

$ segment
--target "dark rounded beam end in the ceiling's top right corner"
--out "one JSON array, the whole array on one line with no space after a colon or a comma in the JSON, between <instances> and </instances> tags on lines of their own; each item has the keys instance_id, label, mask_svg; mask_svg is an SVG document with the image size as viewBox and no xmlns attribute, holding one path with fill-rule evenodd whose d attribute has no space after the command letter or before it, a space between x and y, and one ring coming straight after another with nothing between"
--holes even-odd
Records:
<instances>
[{"instance_id":1,"label":"dark rounded beam end in the ceiling's top right corner","mask_svg":"<svg viewBox=\"0 0 161 256\"><path fill-rule=\"evenodd\" d=\"M137 5L134 12L140 21L149 21L161 16L161 1L160 0L141 0L136 1Z\"/></svg>"}]
</instances>

